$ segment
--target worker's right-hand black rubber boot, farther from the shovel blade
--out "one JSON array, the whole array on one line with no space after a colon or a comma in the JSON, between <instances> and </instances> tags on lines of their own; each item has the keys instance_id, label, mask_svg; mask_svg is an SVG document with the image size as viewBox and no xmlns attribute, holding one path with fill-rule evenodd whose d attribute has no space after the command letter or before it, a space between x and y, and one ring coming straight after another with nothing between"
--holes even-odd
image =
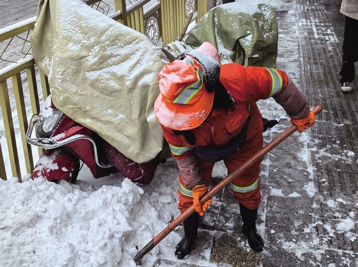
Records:
<instances>
[{"instance_id":1,"label":"worker's right-hand black rubber boot, farther from the shovel blade","mask_svg":"<svg viewBox=\"0 0 358 267\"><path fill-rule=\"evenodd\" d=\"M256 252L262 251L264 245L263 240L256 232L257 208L249 209L240 203L240 212L244 223L242 229L250 247Z\"/></svg>"}]
</instances>

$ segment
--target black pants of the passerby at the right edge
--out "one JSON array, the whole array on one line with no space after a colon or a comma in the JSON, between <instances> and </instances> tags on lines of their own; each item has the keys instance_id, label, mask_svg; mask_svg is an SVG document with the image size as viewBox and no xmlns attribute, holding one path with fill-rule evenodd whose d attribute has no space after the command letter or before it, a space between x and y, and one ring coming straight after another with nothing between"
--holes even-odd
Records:
<instances>
[{"instance_id":1,"label":"black pants of the passerby at the right edge","mask_svg":"<svg viewBox=\"0 0 358 267\"><path fill-rule=\"evenodd\" d=\"M358 61L358 20L344 17L342 69L339 72L341 83L353 81L354 62Z\"/></svg>"}]
</instances>

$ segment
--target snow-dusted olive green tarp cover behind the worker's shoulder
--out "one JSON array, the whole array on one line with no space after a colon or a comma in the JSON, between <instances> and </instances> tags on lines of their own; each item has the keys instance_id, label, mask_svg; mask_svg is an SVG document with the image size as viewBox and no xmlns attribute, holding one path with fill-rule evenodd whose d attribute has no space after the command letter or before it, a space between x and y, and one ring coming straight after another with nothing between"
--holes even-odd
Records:
<instances>
[{"instance_id":1,"label":"snow-dusted olive green tarp cover behind the worker's shoulder","mask_svg":"<svg viewBox=\"0 0 358 267\"><path fill-rule=\"evenodd\" d=\"M210 10L190 31L185 44L213 44L221 64L274 68L278 26L273 8L262 0L236 0Z\"/></svg>"}]
</instances>

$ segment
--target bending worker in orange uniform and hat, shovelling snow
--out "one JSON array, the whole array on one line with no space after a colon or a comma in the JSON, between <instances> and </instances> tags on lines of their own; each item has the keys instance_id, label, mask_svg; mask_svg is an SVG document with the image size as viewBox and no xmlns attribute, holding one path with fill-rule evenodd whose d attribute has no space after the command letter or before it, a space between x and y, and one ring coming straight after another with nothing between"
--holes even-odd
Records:
<instances>
[{"instance_id":1,"label":"bending worker in orange uniform and hat, shovelling snow","mask_svg":"<svg viewBox=\"0 0 358 267\"><path fill-rule=\"evenodd\" d=\"M200 198L208 190L214 163L223 160L230 174L263 147L256 102L273 97L299 132L314 123L314 114L285 72L236 63L220 66L217 50L207 42L166 64L158 79L154 112L180 170L178 208L183 212L193 204L196 211L183 221L184 237L176 246L175 255L184 258L196 242L199 215L212 202L201 205ZM231 182L243 232L255 251L264 246L256 232L262 160Z\"/></svg>"}]
</instances>

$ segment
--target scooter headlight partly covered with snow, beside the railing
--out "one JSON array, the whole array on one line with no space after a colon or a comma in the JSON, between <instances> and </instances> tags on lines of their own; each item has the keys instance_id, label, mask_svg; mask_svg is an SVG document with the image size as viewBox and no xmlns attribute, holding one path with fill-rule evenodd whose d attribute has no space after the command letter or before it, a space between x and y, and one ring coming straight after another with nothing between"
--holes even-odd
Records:
<instances>
[{"instance_id":1,"label":"scooter headlight partly covered with snow, beside the railing","mask_svg":"<svg viewBox=\"0 0 358 267\"><path fill-rule=\"evenodd\" d=\"M54 133L64 114L58 109L52 109L52 111L52 114L48 116L40 112L35 129L37 137L46 138Z\"/></svg>"}]
</instances>

